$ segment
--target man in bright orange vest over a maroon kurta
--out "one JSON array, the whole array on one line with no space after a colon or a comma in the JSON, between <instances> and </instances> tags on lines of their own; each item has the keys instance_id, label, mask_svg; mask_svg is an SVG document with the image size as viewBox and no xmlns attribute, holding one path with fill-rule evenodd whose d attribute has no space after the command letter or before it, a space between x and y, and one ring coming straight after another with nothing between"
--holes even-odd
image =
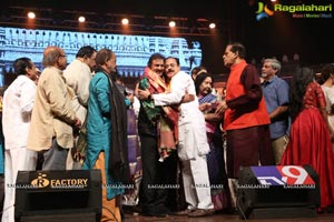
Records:
<instances>
[{"instance_id":1,"label":"man in bright orange vest over a maroon kurta","mask_svg":"<svg viewBox=\"0 0 334 222\"><path fill-rule=\"evenodd\" d=\"M258 72L246 63L244 46L228 44L223 59L224 64L230 68L230 73L226 100L216 112L225 111L227 176L237 179L240 167L275 164L271 147L271 120ZM235 188L232 192L235 194Z\"/></svg>"}]
</instances>

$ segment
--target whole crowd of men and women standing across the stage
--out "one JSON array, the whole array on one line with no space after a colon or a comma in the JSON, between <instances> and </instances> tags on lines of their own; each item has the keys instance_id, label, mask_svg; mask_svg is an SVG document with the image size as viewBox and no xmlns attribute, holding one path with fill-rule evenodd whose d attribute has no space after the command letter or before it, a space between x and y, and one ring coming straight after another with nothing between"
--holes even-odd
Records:
<instances>
[{"instance_id":1,"label":"whole crowd of men and women standing across the stage","mask_svg":"<svg viewBox=\"0 0 334 222\"><path fill-rule=\"evenodd\" d=\"M265 59L258 73L238 42L226 46L223 62L230 72L218 91L208 68L189 74L178 58L153 53L127 93L109 49L82 47L68 63L63 49L47 47L42 71L18 58L0 102L2 221L14 221L18 171L78 169L101 171L101 221L121 221L134 182L129 109L138 109L143 215L234 213L243 167L305 164L318 174L317 211L326 212L334 205L334 63L318 79L298 67L288 83L277 59Z\"/></svg>"}]
</instances>

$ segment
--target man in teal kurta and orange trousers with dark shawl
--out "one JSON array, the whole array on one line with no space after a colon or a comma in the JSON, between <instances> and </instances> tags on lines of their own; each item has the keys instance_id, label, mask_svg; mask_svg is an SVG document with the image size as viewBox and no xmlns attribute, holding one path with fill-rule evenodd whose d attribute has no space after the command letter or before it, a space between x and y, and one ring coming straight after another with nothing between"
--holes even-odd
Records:
<instances>
[{"instance_id":1,"label":"man in teal kurta and orange trousers with dark shawl","mask_svg":"<svg viewBox=\"0 0 334 222\"><path fill-rule=\"evenodd\" d=\"M120 201L121 194L125 192L125 184L121 183L122 179L112 176L112 172L118 169L112 169L110 159L121 154L116 153L117 149L127 149L125 144L127 139L125 118L126 105L130 104L130 100L125 99L111 80L111 74L116 71L116 54L108 49L101 49L96 54L96 74L89 84L87 153L82 169L101 170L101 222L120 222ZM117 95L121 98L116 98ZM117 115L114 118L115 112ZM116 122L117 125L114 128ZM112 133L116 134L116 138ZM119 140L121 143L115 147L115 140ZM127 159L126 150L124 151L125 157L121 158ZM127 160L125 162L128 164Z\"/></svg>"}]
</instances>

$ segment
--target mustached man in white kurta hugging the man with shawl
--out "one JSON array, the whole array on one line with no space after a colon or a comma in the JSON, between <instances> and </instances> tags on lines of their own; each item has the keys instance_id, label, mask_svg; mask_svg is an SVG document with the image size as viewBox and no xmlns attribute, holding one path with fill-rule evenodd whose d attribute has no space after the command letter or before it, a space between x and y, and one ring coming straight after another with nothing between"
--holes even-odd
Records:
<instances>
[{"instance_id":1,"label":"mustached man in white kurta hugging the man with shawl","mask_svg":"<svg viewBox=\"0 0 334 222\"><path fill-rule=\"evenodd\" d=\"M139 92L143 99L155 101L155 105L170 105L181 102L184 95L191 94L195 100L180 103L178 130L178 157L181 161L183 180L188 209L179 212L188 216L204 216L214 213L210 195L210 185L206 154L209 152L207 143L205 119L199 111L195 85L191 77L180 71L179 61L176 58L167 58L166 74L171 78L170 93L147 94Z\"/></svg>"}]
</instances>

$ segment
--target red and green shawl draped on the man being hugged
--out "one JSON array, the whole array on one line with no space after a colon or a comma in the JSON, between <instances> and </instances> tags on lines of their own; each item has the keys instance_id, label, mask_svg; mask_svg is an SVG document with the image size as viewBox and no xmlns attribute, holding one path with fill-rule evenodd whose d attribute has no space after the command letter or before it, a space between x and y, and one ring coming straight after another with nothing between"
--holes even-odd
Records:
<instances>
[{"instance_id":1,"label":"red and green shawl draped on the man being hugged","mask_svg":"<svg viewBox=\"0 0 334 222\"><path fill-rule=\"evenodd\" d=\"M144 71L139 89L148 89L150 93L165 93L169 91L165 81L149 68L146 68ZM151 124L157 127L159 161L163 162L176 150L178 141L178 105L164 105L159 108L155 107L153 100L143 100L141 104Z\"/></svg>"}]
</instances>

